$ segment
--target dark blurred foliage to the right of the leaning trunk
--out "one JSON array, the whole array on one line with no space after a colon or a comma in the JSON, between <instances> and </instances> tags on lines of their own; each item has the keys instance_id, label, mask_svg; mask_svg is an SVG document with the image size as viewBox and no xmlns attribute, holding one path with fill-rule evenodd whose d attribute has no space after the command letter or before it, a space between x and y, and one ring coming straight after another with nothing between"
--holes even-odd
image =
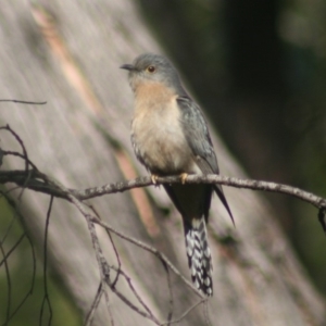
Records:
<instances>
[{"instance_id":1,"label":"dark blurred foliage to the right of the leaning trunk","mask_svg":"<svg viewBox=\"0 0 326 326\"><path fill-rule=\"evenodd\" d=\"M326 2L139 4L249 175L326 197ZM317 211L287 197L266 198L326 293L326 239Z\"/></svg>"}]
</instances>

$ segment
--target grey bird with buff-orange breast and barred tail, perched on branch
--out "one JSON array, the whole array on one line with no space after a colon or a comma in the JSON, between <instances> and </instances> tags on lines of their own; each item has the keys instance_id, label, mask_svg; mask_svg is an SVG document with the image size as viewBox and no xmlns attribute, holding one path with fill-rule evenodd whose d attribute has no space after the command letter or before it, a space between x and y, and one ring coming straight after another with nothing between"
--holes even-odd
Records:
<instances>
[{"instance_id":1,"label":"grey bird with buff-orange breast and barred tail, perched on branch","mask_svg":"<svg viewBox=\"0 0 326 326\"><path fill-rule=\"evenodd\" d=\"M121 68L128 71L135 97L130 135L135 154L154 184L159 176L180 176L181 183L163 187L183 217L192 283L211 297L213 264L206 224L213 191L233 223L234 216L221 185L185 183L191 174L220 173L206 121L167 58L143 53Z\"/></svg>"}]
</instances>

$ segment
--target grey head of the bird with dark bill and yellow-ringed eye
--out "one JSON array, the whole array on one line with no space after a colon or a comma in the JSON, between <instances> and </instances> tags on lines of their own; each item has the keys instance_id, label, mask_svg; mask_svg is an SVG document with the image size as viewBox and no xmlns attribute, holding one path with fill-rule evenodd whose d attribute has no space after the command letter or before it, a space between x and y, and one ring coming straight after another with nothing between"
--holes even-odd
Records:
<instances>
[{"instance_id":1,"label":"grey head of the bird with dark bill and yellow-ringed eye","mask_svg":"<svg viewBox=\"0 0 326 326\"><path fill-rule=\"evenodd\" d=\"M143 53L131 64L123 64L121 68L129 71L129 83L134 91L142 83L163 83L176 93L186 95L176 68L165 57Z\"/></svg>"}]
</instances>

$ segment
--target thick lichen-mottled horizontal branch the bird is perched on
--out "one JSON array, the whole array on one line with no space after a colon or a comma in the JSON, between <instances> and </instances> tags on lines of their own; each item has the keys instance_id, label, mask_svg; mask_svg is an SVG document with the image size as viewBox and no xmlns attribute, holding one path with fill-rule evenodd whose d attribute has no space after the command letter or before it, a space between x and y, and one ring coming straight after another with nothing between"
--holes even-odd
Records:
<instances>
[{"instance_id":1,"label":"thick lichen-mottled horizontal branch the bird is perched on","mask_svg":"<svg viewBox=\"0 0 326 326\"><path fill-rule=\"evenodd\" d=\"M17 186L24 186L28 189L40 191L43 193L52 195L54 197L68 199L66 192L63 192L57 185L51 183L49 178L35 170L28 170L28 179L26 180L26 171L0 171L0 184L13 183ZM156 179L156 185L162 184L179 184L179 176L167 176L159 177ZM241 179L236 177L227 177L222 175L209 174L209 175L189 175L185 181L186 184L220 184L227 187L244 188L252 190L262 190L269 192L277 192L289 195L301 199L317 209L326 209L326 199L318 197L312 192L296 188L289 185L263 181L263 180L252 180L252 179ZM120 181L116 184L108 184L100 187L88 188L85 190L68 189L71 195L73 195L78 200L86 200L95 197L100 197L109 193L124 192L126 190L139 187L147 187L153 185L149 176L138 177L133 180Z\"/></svg>"}]
</instances>

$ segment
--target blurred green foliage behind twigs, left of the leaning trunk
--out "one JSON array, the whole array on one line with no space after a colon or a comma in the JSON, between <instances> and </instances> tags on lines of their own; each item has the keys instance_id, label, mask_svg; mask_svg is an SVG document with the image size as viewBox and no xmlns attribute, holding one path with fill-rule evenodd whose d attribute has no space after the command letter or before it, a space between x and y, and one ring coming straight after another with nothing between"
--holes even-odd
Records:
<instances>
[{"instance_id":1,"label":"blurred green foliage behind twigs, left of the leaning trunk","mask_svg":"<svg viewBox=\"0 0 326 326\"><path fill-rule=\"evenodd\" d=\"M4 325L8 315L20 306L24 298L24 304L13 314L9 324L5 325L49 325L50 308L46 302L41 322L40 312L45 299L43 265L36 252L36 271L34 279L34 260L30 242L20 223L18 216L7 204L3 198L0 199L0 241L1 259L3 253L9 253L15 244L15 249L7 259L7 265L0 265L0 325ZM49 293L52 310L51 325L83 325L80 315L74 305L73 300L65 292L64 286L48 267L47 291ZM28 294L29 293L29 294Z\"/></svg>"}]
</instances>

